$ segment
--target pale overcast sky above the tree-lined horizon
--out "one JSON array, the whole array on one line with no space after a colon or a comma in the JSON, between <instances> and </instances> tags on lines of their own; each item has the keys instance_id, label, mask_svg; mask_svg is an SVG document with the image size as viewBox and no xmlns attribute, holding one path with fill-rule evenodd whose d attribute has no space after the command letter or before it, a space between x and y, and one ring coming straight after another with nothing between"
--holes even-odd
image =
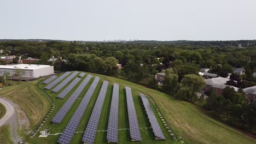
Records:
<instances>
[{"instance_id":1,"label":"pale overcast sky above the tree-lined horizon","mask_svg":"<svg viewBox=\"0 0 256 144\"><path fill-rule=\"evenodd\" d=\"M256 39L256 1L0 1L0 39L130 38Z\"/></svg>"}]
</instances>

